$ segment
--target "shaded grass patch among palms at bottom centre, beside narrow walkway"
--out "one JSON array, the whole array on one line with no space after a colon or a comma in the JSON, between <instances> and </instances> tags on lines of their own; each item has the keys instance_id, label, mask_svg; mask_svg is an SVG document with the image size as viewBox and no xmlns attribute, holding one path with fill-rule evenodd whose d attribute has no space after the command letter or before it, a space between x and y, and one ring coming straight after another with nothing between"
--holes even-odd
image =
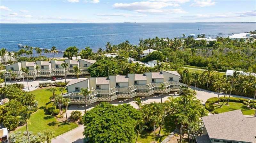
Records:
<instances>
[{"instance_id":1,"label":"shaded grass patch among palms at bottom centre, beside narrow walkway","mask_svg":"<svg viewBox=\"0 0 256 143\"><path fill-rule=\"evenodd\" d=\"M155 141L157 143L162 142L174 129L175 129L175 124L174 124L174 120L172 117L170 116L166 116L164 118L164 125L161 129L161 136L157 136L158 132L159 132L159 128L156 130L155 132ZM151 141L153 141L153 134L154 132L149 132L147 130L144 130L138 137L137 142L138 143L150 143ZM135 142L135 140L134 140Z\"/></svg>"}]
</instances>

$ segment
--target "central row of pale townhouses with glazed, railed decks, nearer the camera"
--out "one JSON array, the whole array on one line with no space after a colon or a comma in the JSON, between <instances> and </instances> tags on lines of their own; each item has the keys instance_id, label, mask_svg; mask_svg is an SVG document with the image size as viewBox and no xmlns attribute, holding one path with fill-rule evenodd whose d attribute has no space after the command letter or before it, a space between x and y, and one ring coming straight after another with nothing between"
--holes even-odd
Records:
<instances>
[{"instance_id":1,"label":"central row of pale townhouses with glazed, railed decks, nearer the camera","mask_svg":"<svg viewBox=\"0 0 256 143\"><path fill-rule=\"evenodd\" d=\"M88 104L97 101L113 101L118 98L160 94L162 93L159 89L161 84L165 86L163 93L182 92L181 86L187 85L179 82L180 77L176 71L160 71L72 80L66 86L68 93L64 97L70 98L71 104L84 104L85 97L79 92L81 88L87 87L92 92L86 97Z\"/></svg>"}]
</instances>

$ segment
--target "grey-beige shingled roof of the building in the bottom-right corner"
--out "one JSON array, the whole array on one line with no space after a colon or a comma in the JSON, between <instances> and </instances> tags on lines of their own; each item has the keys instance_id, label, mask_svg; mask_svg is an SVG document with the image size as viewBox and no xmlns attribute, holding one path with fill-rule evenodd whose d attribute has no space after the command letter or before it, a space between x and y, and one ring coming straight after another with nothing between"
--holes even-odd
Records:
<instances>
[{"instance_id":1,"label":"grey-beige shingled roof of the building in the bottom-right corner","mask_svg":"<svg viewBox=\"0 0 256 143\"><path fill-rule=\"evenodd\" d=\"M244 117L241 110L202 117L210 139L256 143L256 118Z\"/></svg>"}]
</instances>

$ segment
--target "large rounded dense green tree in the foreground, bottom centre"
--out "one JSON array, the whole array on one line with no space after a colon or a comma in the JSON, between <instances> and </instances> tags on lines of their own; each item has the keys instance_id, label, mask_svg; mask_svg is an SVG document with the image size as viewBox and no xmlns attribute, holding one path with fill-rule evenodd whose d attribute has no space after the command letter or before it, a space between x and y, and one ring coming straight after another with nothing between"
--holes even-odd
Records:
<instances>
[{"instance_id":1,"label":"large rounded dense green tree in the foreground, bottom centre","mask_svg":"<svg viewBox=\"0 0 256 143\"><path fill-rule=\"evenodd\" d=\"M102 102L84 114L84 136L91 143L130 143L141 119L140 111L129 104Z\"/></svg>"}]
</instances>

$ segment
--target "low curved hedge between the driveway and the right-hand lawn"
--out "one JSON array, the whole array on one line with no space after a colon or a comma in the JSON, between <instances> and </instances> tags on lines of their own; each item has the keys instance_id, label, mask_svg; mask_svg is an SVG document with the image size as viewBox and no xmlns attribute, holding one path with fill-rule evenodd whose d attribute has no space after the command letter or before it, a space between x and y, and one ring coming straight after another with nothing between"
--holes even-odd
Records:
<instances>
[{"instance_id":1,"label":"low curved hedge between the driveway and the right-hand lawn","mask_svg":"<svg viewBox=\"0 0 256 143\"><path fill-rule=\"evenodd\" d=\"M220 102L224 101L224 97L220 97ZM228 97L225 97L225 102L228 101ZM215 103L218 103L219 99L218 97L212 97L207 99L207 101L205 102L205 108L209 111L214 110L214 105ZM237 103L244 103L244 102L249 102L248 99L244 99L244 98L238 98L238 97L230 97L229 98L229 102L237 102Z\"/></svg>"}]
</instances>

